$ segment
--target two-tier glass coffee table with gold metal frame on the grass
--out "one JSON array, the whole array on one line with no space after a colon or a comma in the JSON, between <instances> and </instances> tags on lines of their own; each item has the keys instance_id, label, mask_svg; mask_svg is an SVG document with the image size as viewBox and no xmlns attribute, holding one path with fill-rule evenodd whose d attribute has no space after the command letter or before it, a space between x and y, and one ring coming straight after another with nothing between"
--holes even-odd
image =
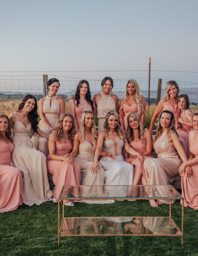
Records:
<instances>
[{"instance_id":1,"label":"two-tier glass coffee table with gold metal frame on the grass","mask_svg":"<svg viewBox=\"0 0 198 256\"><path fill-rule=\"evenodd\" d=\"M104 191L103 196L85 197L82 192L86 189L93 189L102 187ZM123 192L123 190L138 191L137 194L124 196L108 196L106 190L110 187L116 187L116 190ZM143 189L144 188L144 189ZM160 190L163 191L163 196L160 196ZM146 194L140 195L142 191ZM141 191L141 192L139 192ZM77 194L76 194L77 193ZM167 193L167 194L165 194ZM168 194L169 193L169 194ZM169 216L154 217L154 216L121 216L121 217L65 217L64 216L64 201L65 200L149 200L149 199L169 199ZM182 200L182 230L178 228L171 217L171 202L174 199ZM62 203L62 220L60 223L60 202ZM141 226L142 225L142 226ZM160 225L162 228L160 229ZM139 228L139 229L138 229ZM142 229L142 231L141 231ZM113 231L112 231L113 230ZM184 198L171 185L137 185L137 186L63 186L60 196L58 198L58 246L60 245L60 237L75 237L75 236L171 236L181 237L181 245L183 246L184 236Z\"/></svg>"}]
</instances>

